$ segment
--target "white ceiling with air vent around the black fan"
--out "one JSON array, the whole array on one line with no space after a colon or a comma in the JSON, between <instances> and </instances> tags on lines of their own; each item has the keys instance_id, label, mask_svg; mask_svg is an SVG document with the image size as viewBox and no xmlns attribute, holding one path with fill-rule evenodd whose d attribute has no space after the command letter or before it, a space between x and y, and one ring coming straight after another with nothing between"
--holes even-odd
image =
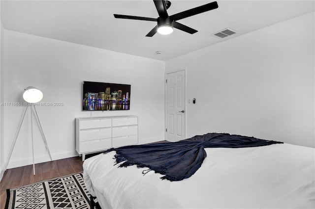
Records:
<instances>
[{"instance_id":1,"label":"white ceiling with air vent around the black fan","mask_svg":"<svg viewBox=\"0 0 315 209\"><path fill-rule=\"evenodd\" d=\"M213 0L171 0L169 15ZM158 60L234 38L315 10L314 0L218 0L219 8L178 21L198 32L174 28L170 35L145 35L156 22L115 19L113 14L157 18L153 0L1 0L5 29ZM212 34L238 31L226 38ZM156 54L161 51L161 54Z\"/></svg>"}]
</instances>

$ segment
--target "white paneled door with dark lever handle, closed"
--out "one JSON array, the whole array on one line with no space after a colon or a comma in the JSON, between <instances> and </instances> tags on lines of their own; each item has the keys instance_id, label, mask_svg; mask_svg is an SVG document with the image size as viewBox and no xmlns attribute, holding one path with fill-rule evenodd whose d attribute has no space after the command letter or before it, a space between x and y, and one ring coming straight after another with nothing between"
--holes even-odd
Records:
<instances>
[{"instance_id":1,"label":"white paneled door with dark lever handle, closed","mask_svg":"<svg viewBox=\"0 0 315 209\"><path fill-rule=\"evenodd\" d=\"M185 139L185 71L166 74L166 140Z\"/></svg>"}]
</instances>

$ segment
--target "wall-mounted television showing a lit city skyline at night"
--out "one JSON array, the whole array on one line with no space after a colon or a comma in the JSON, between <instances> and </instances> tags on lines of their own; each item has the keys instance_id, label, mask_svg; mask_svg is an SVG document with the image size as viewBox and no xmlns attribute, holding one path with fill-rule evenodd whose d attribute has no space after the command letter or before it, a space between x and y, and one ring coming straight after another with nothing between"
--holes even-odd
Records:
<instances>
[{"instance_id":1,"label":"wall-mounted television showing a lit city skyline at night","mask_svg":"<svg viewBox=\"0 0 315 209\"><path fill-rule=\"evenodd\" d=\"M129 110L131 85L83 81L82 110Z\"/></svg>"}]
</instances>

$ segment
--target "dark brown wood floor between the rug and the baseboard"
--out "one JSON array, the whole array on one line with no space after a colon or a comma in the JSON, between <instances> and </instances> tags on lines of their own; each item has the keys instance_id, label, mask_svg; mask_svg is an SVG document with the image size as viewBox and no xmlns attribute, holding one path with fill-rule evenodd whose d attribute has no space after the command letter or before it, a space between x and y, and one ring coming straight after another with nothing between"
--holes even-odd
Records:
<instances>
[{"instance_id":1,"label":"dark brown wood floor between the rug and the baseboard","mask_svg":"<svg viewBox=\"0 0 315 209\"><path fill-rule=\"evenodd\" d=\"M35 164L35 176L33 165L7 169L0 182L0 209L4 209L5 206L6 189L80 172L83 171L82 164L81 157L38 163Z\"/></svg>"}]
</instances>

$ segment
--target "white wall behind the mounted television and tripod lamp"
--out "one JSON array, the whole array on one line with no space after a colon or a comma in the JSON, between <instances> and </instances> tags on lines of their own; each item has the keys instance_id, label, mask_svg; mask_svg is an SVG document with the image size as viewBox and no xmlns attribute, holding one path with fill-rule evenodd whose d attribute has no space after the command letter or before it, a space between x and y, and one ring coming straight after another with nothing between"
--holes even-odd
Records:
<instances>
[{"instance_id":1,"label":"white wall behind the mounted television and tripod lamp","mask_svg":"<svg viewBox=\"0 0 315 209\"><path fill-rule=\"evenodd\" d=\"M39 88L43 103L38 117L53 159L73 157L76 117L137 115L139 143L164 140L164 62L124 53L4 30L4 102L24 102L28 86ZM131 84L130 110L82 111L82 82ZM4 107L5 159L24 106ZM35 163L49 160L36 124ZM32 164L30 114L26 114L9 168Z\"/></svg>"}]
</instances>

